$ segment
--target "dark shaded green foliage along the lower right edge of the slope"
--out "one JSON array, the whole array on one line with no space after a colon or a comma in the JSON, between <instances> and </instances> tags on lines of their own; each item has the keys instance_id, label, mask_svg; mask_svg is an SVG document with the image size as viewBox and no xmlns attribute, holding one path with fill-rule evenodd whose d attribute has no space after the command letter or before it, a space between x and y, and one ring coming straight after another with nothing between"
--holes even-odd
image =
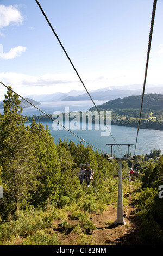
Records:
<instances>
[{"instance_id":1,"label":"dark shaded green foliage along the lower right edge of the slope","mask_svg":"<svg viewBox=\"0 0 163 256\"><path fill-rule=\"evenodd\" d=\"M163 204L159 198L159 186L163 184L162 156L152 166L149 163L142 178L142 190L137 200L141 219L140 235L144 243L160 245L163 243Z\"/></svg>"}]
</instances>

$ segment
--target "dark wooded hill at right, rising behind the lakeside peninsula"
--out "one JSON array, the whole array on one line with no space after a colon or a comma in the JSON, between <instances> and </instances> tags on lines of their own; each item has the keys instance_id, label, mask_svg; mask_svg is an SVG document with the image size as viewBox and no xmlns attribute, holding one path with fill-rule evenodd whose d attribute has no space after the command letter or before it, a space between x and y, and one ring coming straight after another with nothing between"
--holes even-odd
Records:
<instances>
[{"instance_id":1,"label":"dark wooded hill at right, rising behind the lakeside peninsula","mask_svg":"<svg viewBox=\"0 0 163 256\"><path fill-rule=\"evenodd\" d=\"M123 99L110 100L102 105L99 105L99 109L140 109L142 95L129 96ZM143 109L161 110L163 109L163 94L145 94L143 98ZM93 111L95 107L89 110ZM96 109L95 109L96 110Z\"/></svg>"}]
</instances>

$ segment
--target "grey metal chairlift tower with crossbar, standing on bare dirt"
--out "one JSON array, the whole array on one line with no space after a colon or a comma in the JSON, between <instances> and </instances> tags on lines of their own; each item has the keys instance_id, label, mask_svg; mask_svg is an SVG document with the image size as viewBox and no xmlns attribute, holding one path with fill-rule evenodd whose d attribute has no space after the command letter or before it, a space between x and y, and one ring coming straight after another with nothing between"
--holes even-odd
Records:
<instances>
[{"instance_id":1,"label":"grey metal chairlift tower with crossbar, standing on bare dirt","mask_svg":"<svg viewBox=\"0 0 163 256\"><path fill-rule=\"evenodd\" d=\"M117 218L115 224L126 224L123 218L123 193L122 193L122 161L127 159L133 159L133 157L113 157L112 156L112 146L113 145L127 145L128 146L128 156L130 155L129 148L134 144L106 144L111 145L111 159L117 159L119 162L119 172L118 172L118 204L117 204Z\"/></svg>"}]
</instances>

